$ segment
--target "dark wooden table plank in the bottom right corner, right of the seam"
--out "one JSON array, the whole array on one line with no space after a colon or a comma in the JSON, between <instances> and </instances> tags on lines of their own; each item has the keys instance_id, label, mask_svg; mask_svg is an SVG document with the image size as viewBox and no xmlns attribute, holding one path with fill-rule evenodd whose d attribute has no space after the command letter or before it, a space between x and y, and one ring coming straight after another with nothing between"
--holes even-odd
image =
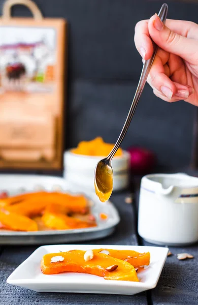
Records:
<instances>
[{"instance_id":1,"label":"dark wooden table plank in the bottom right corner, right of the seam","mask_svg":"<svg viewBox=\"0 0 198 305\"><path fill-rule=\"evenodd\" d=\"M155 246L143 241L145 246ZM198 304L198 245L191 247L169 247L173 253L161 272L159 282L152 290L153 305L197 305ZM177 254L189 253L193 259L178 260Z\"/></svg>"}]
</instances>

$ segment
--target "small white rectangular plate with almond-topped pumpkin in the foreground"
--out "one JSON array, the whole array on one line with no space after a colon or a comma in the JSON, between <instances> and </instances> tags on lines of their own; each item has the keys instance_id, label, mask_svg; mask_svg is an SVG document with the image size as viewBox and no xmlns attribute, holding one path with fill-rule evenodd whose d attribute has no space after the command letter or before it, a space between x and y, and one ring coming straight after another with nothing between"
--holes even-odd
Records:
<instances>
[{"instance_id":1,"label":"small white rectangular plate with almond-topped pumpkin in the foreground","mask_svg":"<svg viewBox=\"0 0 198 305\"><path fill-rule=\"evenodd\" d=\"M104 278L84 273L65 272L59 275L43 275L40 262L44 254L69 250L88 249L135 250L150 252L150 266L138 274L140 282L108 281ZM37 292L75 292L136 294L157 285L161 270L168 254L167 248L144 246L107 246L107 245L56 245L43 246L32 253L8 278L7 283L25 287Z\"/></svg>"}]
</instances>

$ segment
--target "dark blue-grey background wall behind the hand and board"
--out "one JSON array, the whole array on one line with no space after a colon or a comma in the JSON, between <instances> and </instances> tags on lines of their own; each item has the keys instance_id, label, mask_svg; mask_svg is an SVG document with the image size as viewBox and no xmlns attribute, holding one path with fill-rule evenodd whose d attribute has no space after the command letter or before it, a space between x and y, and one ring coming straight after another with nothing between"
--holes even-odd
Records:
<instances>
[{"instance_id":1,"label":"dark blue-grey background wall behind the hand and board","mask_svg":"<svg viewBox=\"0 0 198 305\"><path fill-rule=\"evenodd\" d=\"M65 148L102 136L116 141L136 90L142 60L134 27L160 9L162 1L36 0L45 17L69 22L69 77ZM4 1L0 0L0 5ZM168 1L172 19L198 22L198 3ZM13 16L31 16L22 6ZM169 104L147 85L123 148L141 145L156 152L167 169L187 166L195 107Z\"/></svg>"}]
</instances>

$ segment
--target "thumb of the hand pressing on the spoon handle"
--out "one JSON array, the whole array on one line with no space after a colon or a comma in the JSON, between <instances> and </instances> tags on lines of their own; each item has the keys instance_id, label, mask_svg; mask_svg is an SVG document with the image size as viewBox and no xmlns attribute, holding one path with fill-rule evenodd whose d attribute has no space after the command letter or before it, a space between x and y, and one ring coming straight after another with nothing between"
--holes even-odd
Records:
<instances>
[{"instance_id":1,"label":"thumb of the hand pressing on the spoon handle","mask_svg":"<svg viewBox=\"0 0 198 305\"><path fill-rule=\"evenodd\" d=\"M196 62L198 57L196 54L198 42L196 40L183 37L171 31L170 28L163 25L157 14L150 18L148 29L152 40L161 49L176 54L187 60L187 62Z\"/></svg>"}]
</instances>

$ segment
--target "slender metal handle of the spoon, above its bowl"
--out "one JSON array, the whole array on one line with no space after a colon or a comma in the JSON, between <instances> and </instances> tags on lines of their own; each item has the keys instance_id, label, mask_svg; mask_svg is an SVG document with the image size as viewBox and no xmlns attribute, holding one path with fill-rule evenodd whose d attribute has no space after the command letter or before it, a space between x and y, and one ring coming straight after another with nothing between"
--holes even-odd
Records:
<instances>
[{"instance_id":1,"label":"slender metal handle of the spoon, above its bowl","mask_svg":"<svg viewBox=\"0 0 198 305\"><path fill-rule=\"evenodd\" d=\"M160 9L159 14L158 14L158 16L161 19L161 21L163 22L163 24L166 22L167 13L168 13L168 5L166 3L164 3L161 6L161 9ZM149 75L151 66L153 64L153 60L154 60L156 52L157 52L157 46L156 46L155 43L153 43L153 47L154 47L154 51L153 51L152 57L148 60L145 60L145 62L144 62L144 65L143 65L143 68L142 68L142 73L141 73L140 80L139 80L139 83L138 83L138 87L137 87L137 90L136 90L136 94L135 94L134 100L133 100L133 102L130 106L130 110L128 112L126 121L124 123L124 127L123 127L123 129L120 133L120 136L119 136L117 142L115 143L115 146L113 147L111 153L107 157L107 159L109 159L109 160L111 160L113 158L113 156L115 155L117 149L119 148L119 146L120 146L120 144L121 144L121 142L122 142L122 140L123 140L123 138L124 138L124 136L125 136L125 134L128 130L128 127L130 125L130 121L133 118L134 112L136 110L136 106L138 104L138 101L140 99L140 96L142 94L144 86L146 84L147 77Z\"/></svg>"}]
</instances>

